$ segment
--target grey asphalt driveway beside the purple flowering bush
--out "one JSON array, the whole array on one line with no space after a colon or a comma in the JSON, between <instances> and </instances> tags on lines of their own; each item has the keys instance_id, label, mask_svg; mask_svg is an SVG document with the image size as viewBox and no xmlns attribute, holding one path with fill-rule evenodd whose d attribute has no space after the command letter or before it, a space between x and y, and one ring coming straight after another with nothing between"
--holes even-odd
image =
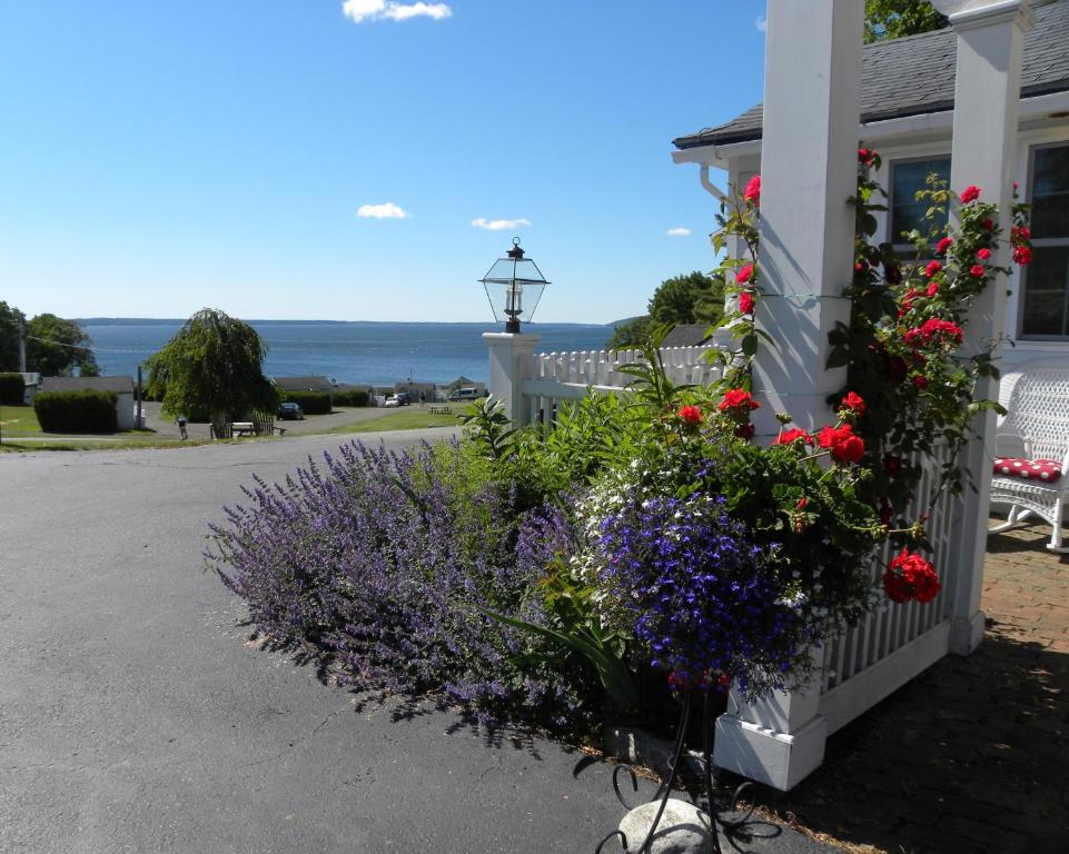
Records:
<instances>
[{"instance_id":1,"label":"grey asphalt driveway beside the purple flowering bush","mask_svg":"<svg viewBox=\"0 0 1069 854\"><path fill-rule=\"evenodd\" d=\"M0 852L545 854L615 826L603 764L487 744L451 713L357 712L246 643L201 572L205 525L251 473L337 445L0 457Z\"/></svg>"}]
</instances>

